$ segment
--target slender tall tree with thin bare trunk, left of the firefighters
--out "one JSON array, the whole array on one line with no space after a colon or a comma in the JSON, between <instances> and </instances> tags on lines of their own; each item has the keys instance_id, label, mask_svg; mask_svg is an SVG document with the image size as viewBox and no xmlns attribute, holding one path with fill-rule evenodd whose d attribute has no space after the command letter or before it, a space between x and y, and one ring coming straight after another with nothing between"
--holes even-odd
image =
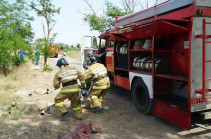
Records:
<instances>
[{"instance_id":1,"label":"slender tall tree with thin bare trunk, left of the firefighters","mask_svg":"<svg viewBox=\"0 0 211 139\"><path fill-rule=\"evenodd\" d=\"M26 3L27 4L27 3ZM47 65L47 58L50 57L50 46L52 45L52 40L56 37L56 34L51 34L52 30L56 24L56 20L53 18L55 14L59 14L60 8L56 8L51 0L36 0L36 2L31 1L30 4L27 4L31 7L38 16L43 17L45 19L46 24L42 24L43 33L44 33L44 41L43 41L43 51L44 51L44 66Z\"/></svg>"}]
</instances>

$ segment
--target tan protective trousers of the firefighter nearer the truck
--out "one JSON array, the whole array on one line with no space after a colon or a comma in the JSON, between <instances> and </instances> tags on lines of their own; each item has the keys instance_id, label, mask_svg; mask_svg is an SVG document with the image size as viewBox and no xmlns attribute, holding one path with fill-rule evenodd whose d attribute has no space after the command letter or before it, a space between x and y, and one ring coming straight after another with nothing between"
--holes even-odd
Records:
<instances>
[{"instance_id":1,"label":"tan protective trousers of the firefighter nearer the truck","mask_svg":"<svg viewBox=\"0 0 211 139\"><path fill-rule=\"evenodd\" d=\"M107 89L93 89L92 90L92 97L91 97L91 108L103 106L103 98L105 94L108 92L109 88Z\"/></svg>"}]
</instances>

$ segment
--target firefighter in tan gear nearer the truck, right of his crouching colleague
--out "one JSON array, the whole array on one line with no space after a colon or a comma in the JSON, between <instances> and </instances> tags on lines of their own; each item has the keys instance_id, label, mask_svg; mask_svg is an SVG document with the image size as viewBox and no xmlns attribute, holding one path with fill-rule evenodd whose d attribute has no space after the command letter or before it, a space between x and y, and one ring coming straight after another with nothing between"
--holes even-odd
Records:
<instances>
[{"instance_id":1,"label":"firefighter in tan gear nearer the truck, right of his crouching colleague","mask_svg":"<svg viewBox=\"0 0 211 139\"><path fill-rule=\"evenodd\" d=\"M103 64L97 63L94 55L90 56L91 65L85 71L85 80L93 80L91 96L91 112L101 112L103 97L110 88L110 81L107 76L107 69Z\"/></svg>"}]
</instances>

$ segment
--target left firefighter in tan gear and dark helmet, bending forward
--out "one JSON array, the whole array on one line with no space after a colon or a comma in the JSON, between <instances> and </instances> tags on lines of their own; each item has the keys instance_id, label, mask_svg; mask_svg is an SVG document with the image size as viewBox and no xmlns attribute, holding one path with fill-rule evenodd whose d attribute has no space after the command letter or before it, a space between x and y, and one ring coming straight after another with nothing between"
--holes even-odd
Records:
<instances>
[{"instance_id":1,"label":"left firefighter in tan gear and dark helmet, bending forward","mask_svg":"<svg viewBox=\"0 0 211 139\"><path fill-rule=\"evenodd\" d=\"M64 100L69 99L76 119L82 119L81 103L79 99L80 86L77 83L77 79L80 80L81 84L84 84L84 76L82 72L75 67L69 67L68 62L64 58L60 58L57 61L57 66L60 70L56 73L53 81L55 89L62 88L60 93L54 99L58 114L61 115L61 120L67 117L68 112L64 105Z\"/></svg>"}]
</instances>

